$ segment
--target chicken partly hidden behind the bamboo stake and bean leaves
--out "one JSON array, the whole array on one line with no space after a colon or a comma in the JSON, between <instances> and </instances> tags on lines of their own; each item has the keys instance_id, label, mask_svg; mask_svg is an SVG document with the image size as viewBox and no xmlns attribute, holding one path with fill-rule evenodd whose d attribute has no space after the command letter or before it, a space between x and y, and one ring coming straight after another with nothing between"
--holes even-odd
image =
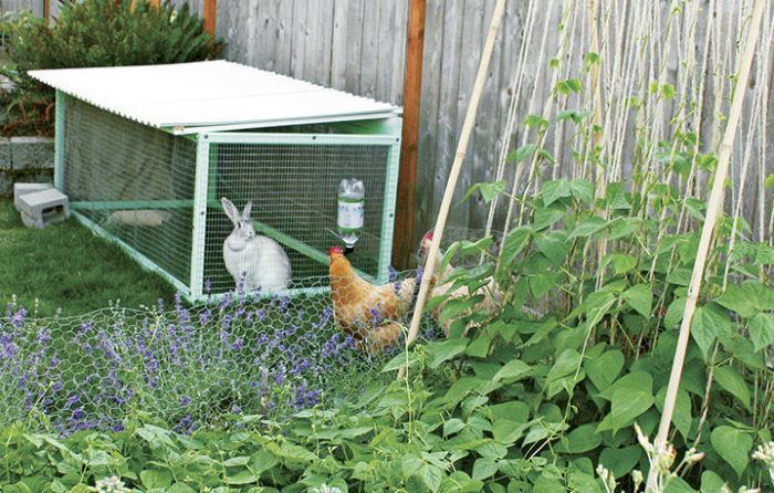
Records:
<instances>
[{"instance_id":1,"label":"chicken partly hidden behind the bamboo stake and bean leaves","mask_svg":"<svg viewBox=\"0 0 774 493\"><path fill-rule=\"evenodd\" d=\"M422 239L422 243L419 248L420 254L423 256L427 256L427 254L430 252L430 244L432 243L432 233L427 233L425 238ZM441 254L442 258L442 254ZM459 297L467 297L471 293L469 292L467 286L460 286L453 291L450 291L453 282L450 283L443 283L443 284L438 284L439 281L444 281L446 279L449 277L449 275L454 271L454 268L451 265L451 263L447 264L446 269L443 269L443 273L440 272L440 265L441 265L441 260L437 259L436 260L436 266L433 269L433 272L430 274L430 293L428 294L428 300L432 300L433 297L437 296L443 296L448 295L446 300L443 300L441 303L439 303L437 306L435 306L431 311L430 314L436 318L436 322L440 321L441 312L443 311L443 306L449 302L449 300L453 298L459 298ZM479 295L482 294L484 298L480 302L477 303L475 305L471 306L469 311L477 311L477 310L485 310L488 313L492 312L496 307L496 303L502 300L503 297L503 291L500 289L500 286L496 285L494 282L494 279L491 279L489 284L483 285L479 287L473 295ZM449 331L451 328L451 324L454 322L453 318L450 318L446 321L443 324L440 324L439 326L443 329L443 334L446 334L447 337L449 337ZM468 328L466 327L464 334L468 333Z\"/></svg>"}]
</instances>

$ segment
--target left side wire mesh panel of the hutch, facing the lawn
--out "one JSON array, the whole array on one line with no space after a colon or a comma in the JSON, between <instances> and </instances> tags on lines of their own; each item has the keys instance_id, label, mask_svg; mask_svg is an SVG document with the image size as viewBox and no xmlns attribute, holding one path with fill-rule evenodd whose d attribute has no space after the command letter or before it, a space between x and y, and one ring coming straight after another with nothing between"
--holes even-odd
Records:
<instances>
[{"instance_id":1,"label":"left side wire mesh panel of the hutch, facing the lawn","mask_svg":"<svg viewBox=\"0 0 774 493\"><path fill-rule=\"evenodd\" d=\"M73 210L188 284L196 144L72 97L64 134Z\"/></svg>"}]
</instances>

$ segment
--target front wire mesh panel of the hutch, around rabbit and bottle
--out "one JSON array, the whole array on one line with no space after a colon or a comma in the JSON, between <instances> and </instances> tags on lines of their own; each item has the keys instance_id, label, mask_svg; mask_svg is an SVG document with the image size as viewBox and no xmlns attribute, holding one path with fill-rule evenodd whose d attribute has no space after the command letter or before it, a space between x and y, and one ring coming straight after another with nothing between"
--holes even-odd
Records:
<instances>
[{"instance_id":1,"label":"front wire mesh panel of the hutch, around rabbit and bottle","mask_svg":"<svg viewBox=\"0 0 774 493\"><path fill-rule=\"evenodd\" d=\"M219 199L239 211L252 203L258 234L278 240L287 255L290 287L314 287L327 275L327 251L344 245L336 229L337 189L343 179L365 187L363 231L348 258L369 279L385 277L387 259L383 228L393 211L385 204L389 187L389 145L353 144L212 144L210 199L207 210L205 275L215 293L234 289L223 262L223 242L234 231ZM217 200L212 200L217 198ZM248 270L272 269L271 260Z\"/></svg>"}]
</instances>

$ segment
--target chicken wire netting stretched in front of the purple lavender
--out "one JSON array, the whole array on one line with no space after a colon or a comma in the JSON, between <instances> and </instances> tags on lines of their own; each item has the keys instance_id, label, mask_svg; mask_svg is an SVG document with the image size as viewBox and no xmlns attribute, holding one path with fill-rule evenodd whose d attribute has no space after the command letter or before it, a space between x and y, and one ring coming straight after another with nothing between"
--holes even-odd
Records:
<instances>
[{"instance_id":1,"label":"chicken wire netting stretched in front of the purple lavender","mask_svg":"<svg viewBox=\"0 0 774 493\"><path fill-rule=\"evenodd\" d=\"M414 276L398 281L415 286ZM411 302L393 317L407 324ZM178 296L175 306L50 318L9 304L0 311L0 424L29 419L66 436L119 430L140 412L187 432L357 401L369 382L394 378L380 370L402 337L366 347L343 329L336 303L231 293L197 307ZM423 334L432 337L429 321Z\"/></svg>"}]
</instances>

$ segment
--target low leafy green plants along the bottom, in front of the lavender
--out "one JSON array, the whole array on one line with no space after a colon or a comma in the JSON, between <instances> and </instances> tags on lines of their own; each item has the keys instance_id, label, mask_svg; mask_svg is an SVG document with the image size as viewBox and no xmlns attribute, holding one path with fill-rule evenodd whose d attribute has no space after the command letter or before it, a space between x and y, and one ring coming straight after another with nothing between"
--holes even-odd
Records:
<instances>
[{"instance_id":1,"label":"low leafy green plants along the bottom, in front of the lavender","mask_svg":"<svg viewBox=\"0 0 774 493\"><path fill-rule=\"evenodd\" d=\"M421 361L425 357L417 359ZM65 439L17 423L0 429L4 471L0 485L14 493L85 491L87 485L113 478L112 482L121 479L129 491L170 492L292 493L325 487L341 492L538 492L566 491L565 481L572 491L616 490L610 471L598 468L604 483L595 481L593 465L583 455L568 466L565 460L554 464L546 459L550 450L532 458L517 457L513 445L491 437L524 433L520 426L491 432L487 428L492 417L517 420L522 411L516 402L510 408L481 407L463 421L438 415L439 402L433 400L416 374L412 386L372 387L353 407L306 410L285 422L247 417L242 428L231 431L199 430L188 436L143 413L125 417L117 432L79 431ZM482 434L481 439L470 439L463 431L471 424L472 433ZM537 440L535 448L542 439ZM766 474L774 474L772 447L774 443L759 447L753 454L763 481ZM525 475L532 476L534 489L520 480ZM702 479L702 493L721 491L722 480L718 483L718 478L705 475L709 480ZM693 491L677 476L672 481L683 487L671 491Z\"/></svg>"}]
</instances>

